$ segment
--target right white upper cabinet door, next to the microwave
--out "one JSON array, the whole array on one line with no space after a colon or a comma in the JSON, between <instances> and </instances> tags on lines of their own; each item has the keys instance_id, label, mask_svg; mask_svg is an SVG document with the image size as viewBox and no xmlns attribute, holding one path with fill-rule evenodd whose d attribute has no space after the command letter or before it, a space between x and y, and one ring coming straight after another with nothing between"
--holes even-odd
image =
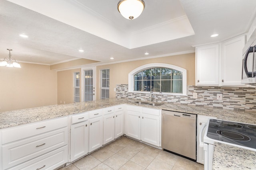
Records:
<instances>
[{"instance_id":1,"label":"right white upper cabinet door, next to the microwave","mask_svg":"<svg viewBox=\"0 0 256 170\"><path fill-rule=\"evenodd\" d=\"M222 43L221 85L242 85L242 50L244 35Z\"/></svg>"}]
</instances>

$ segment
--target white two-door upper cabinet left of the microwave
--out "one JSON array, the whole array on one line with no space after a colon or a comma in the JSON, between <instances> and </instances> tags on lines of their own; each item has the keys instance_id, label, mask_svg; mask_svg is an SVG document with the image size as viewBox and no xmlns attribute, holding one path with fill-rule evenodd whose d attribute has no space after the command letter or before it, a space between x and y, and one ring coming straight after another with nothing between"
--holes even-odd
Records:
<instances>
[{"instance_id":1,"label":"white two-door upper cabinet left of the microwave","mask_svg":"<svg viewBox=\"0 0 256 170\"><path fill-rule=\"evenodd\" d=\"M245 36L196 47L196 85L241 86Z\"/></svg>"}]
</instances>

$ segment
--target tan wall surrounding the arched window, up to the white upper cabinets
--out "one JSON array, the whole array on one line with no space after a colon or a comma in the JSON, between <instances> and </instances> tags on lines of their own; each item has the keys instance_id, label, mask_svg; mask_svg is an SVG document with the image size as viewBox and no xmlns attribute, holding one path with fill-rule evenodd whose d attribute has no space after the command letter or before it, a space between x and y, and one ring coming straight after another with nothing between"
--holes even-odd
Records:
<instances>
[{"instance_id":1,"label":"tan wall surrounding the arched window, up to the white upper cabinets","mask_svg":"<svg viewBox=\"0 0 256 170\"><path fill-rule=\"evenodd\" d=\"M98 91L96 99L100 99L100 69L110 68L110 98L116 97L114 88L116 84L128 84L128 73L135 68L150 64L150 63L165 63L182 67L187 70L187 85L195 85L195 53L174 55L170 57L160 57L154 59L145 59L138 61L131 61L125 63L108 64L97 66L97 83L96 89Z\"/></svg>"}]
</instances>

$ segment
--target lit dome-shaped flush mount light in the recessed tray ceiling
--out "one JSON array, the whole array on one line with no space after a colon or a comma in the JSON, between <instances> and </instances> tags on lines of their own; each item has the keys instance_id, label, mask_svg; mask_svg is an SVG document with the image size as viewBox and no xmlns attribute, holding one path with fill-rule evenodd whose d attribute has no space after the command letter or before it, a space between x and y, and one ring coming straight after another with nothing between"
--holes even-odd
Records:
<instances>
[{"instance_id":1,"label":"lit dome-shaped flush mount light in the recessed tray ceiling","mask_svg":"<svg viewBox=\"0 0 256 170\"><path fill-rule=\"evenodd\" d=\"M144 0L120 0L117 4L120 14L128 20L138 18L144 8Z\"/></svg>"}]
</instances>

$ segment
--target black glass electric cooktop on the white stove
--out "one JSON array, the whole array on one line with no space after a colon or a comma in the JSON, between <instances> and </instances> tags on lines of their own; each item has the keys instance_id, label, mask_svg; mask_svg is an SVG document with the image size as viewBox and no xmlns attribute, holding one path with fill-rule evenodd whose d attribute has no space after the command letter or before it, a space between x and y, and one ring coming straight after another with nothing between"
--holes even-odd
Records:
<instances>
[{"instance_id":1,"label":"black glass electric cooktop on the white stove","mask_svg":"<svg viewBox=\"0 0 256 170\"><path fill-rule=\"evenodd\" d=\"M210 119L207 137L256 149L256 125Z\"/></svg>"}]
</instances>

